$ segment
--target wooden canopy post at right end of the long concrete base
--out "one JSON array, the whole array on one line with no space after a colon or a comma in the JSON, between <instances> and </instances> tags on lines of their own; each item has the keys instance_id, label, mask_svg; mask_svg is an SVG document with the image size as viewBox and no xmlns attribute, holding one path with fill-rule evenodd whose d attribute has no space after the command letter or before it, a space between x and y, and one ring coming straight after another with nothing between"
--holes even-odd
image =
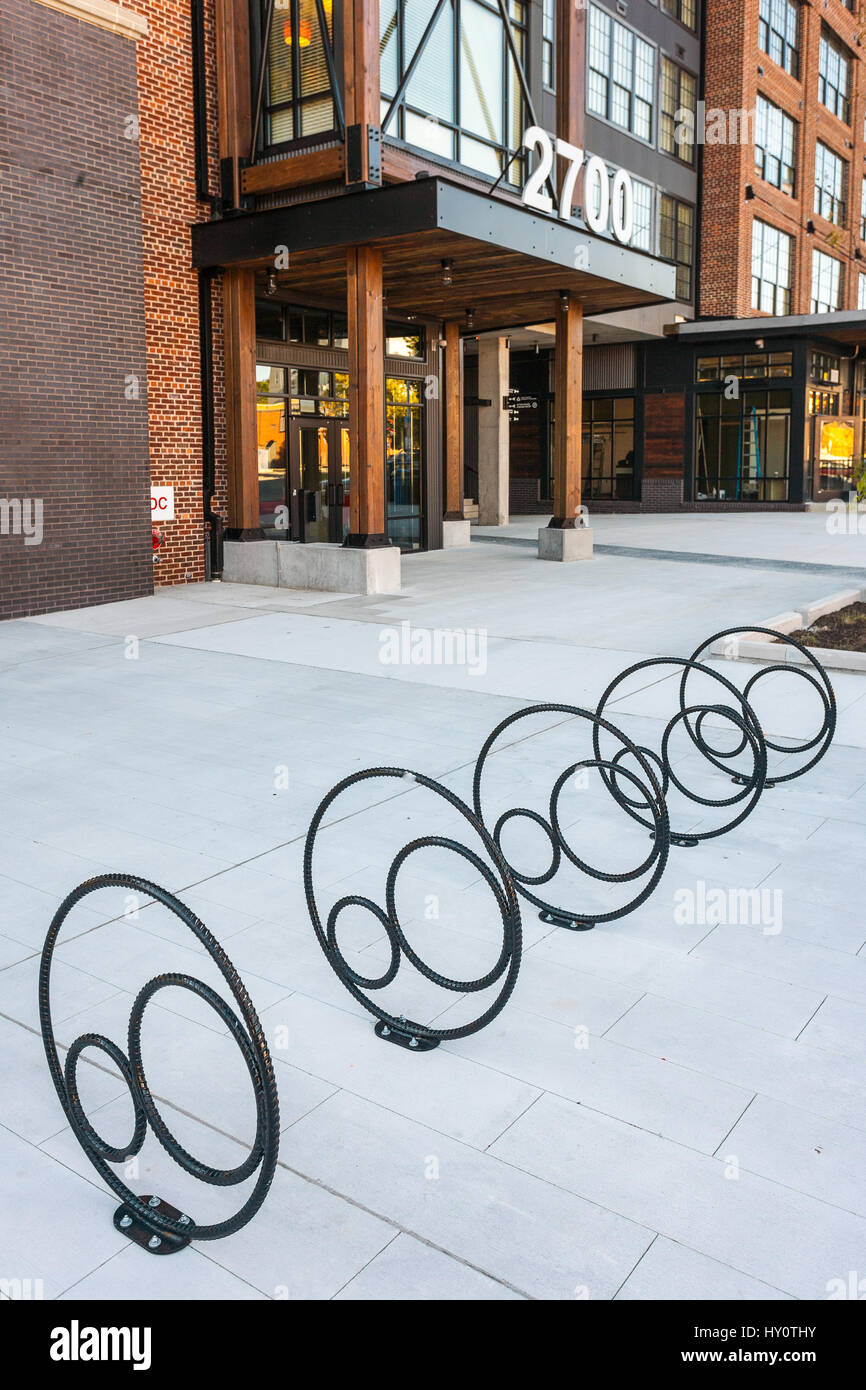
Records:
<instances>
[{"instance_id":1,"label":"wooden canopy post at right end of the long concrete base","mask_svg":"<svg viewBox=\"0 0 866 1390\"><path fill-rule=\"evenodd\" d=\"M389 545L385 534L385 324L382 253L346 252L349 282L349 535L346 545Z\"/></svg>"}]
</instances>

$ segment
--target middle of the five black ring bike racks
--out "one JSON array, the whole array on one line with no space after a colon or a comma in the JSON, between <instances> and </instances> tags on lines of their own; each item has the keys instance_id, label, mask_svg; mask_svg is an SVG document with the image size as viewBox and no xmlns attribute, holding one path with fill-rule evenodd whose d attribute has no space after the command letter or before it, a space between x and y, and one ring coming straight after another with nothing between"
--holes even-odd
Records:
<instances>
[{"instance_id":1,"label":"middle of the five black ring bike racks","mask_svg":"<svg viewBox=\"0 0 866 1390\"><path fill-rule=\"evenodd\" d=\"M631 739L626 738L619 728L607 723L607 720L602 719L599 714L592 713L592 710L580 709L577 705L530 705L527 709L517 710L516 714L510 714L507 719L503 719L502 723L498 724L496 728L488 735L478 755L473 777L473 803L475 815L482 823L482 780L487 760L491 753L495 753L495 745L506 730L513 728L520 720L537 714L567 714L571 720L584 720L592 727L594 744L598 739L599 730L603 728L621 745L612 759L601 758L598 748L595 748L595 758L585 758L574 762L559 774L550 792L549 819L545 819L539 812L517 806L512 810L503 812L492 830L496 848L500 853L503 853L502 831L506 824L513 823L517 819L524 819L541 827L550 844L550 863L544 873L527 874L521 873L513 863L506 860L509 873L514 880L514 887L517 892L527 899L527 902L531 902L535 908L541 909L539 917L542 922L557 927L566 927L570 931L591 931L598 922L614 922L617 917L624 917L627 913L634 912L635 908L639 908L641 903L645 902L653 892L662 874L664 873L664 865L667 863L670 848L670 826L662 781L656 776L651 762L653 755L638 748L631 742ZM637 770L623 766L623 759L627 756L634 759ZM652 826L653 847L649 855L646 855L646 858L637 865L635 869L627 870L626 873L609 873L602 869L594 869L592 865L587 863L587 860L581 859L580 855L574 852L563 833L559 815L562 792L575 773L588 771L589 769L595 769L601 773L603 785L620 806L630 810L630 815L634 812L634 808L641 808L651 817L646 823ZM630 791L627 792L621 784L626 784ZM563 866L563 858L588 877L601 883L630 884L638 878L645 878L646 876L649 877L646 877L644 885L632 898L630 898L628 902L609 912L562 906L541 898L532 890L550 883L556 877Z\"/></svg>"}]
</instances>

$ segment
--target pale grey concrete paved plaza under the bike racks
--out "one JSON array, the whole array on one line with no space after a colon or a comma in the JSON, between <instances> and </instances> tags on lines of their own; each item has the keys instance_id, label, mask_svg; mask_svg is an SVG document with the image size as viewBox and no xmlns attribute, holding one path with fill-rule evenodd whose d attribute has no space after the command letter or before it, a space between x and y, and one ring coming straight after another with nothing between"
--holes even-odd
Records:
<instances>
[{"instance_id":1,"label":"pale grey concrete paved plaza under the bike racks","mask_svg":"<svg viewBox=\"0 0 866 1390\"><path fill-rule=\"evenodd\" d=\"M596 523L620 538L616 525L635 527L652 550L670 548L656 528L669 538L681 520ZM735 553L748 532L759 557L806 545L835 563L808 530L815 516L713 518L733 528L724 542L702 530L708 520L683 527L681 543ZM862 564L859 546L841 546L842 563ZM731 834L674 849L642 909L573 934L524 905L514 998L489 1029L435 1052L374 1037L321 955L302 888L306 827L338 778L409 766L467 795L487 733L527 701L595 705L641 655L688 653L716 628L834 587L812 580L651 556L541 564L478 541L409 557L406 591L392 598L193 585L3 624L0 1148L11 1200L0 1277L40 1279L50 1298L784 1300L826 1298L862 1269L863 677L834 680L840 731L820 766L767 791ZM391 664L382 655L403 623L484 634L484 659ZM731 670L740 684L752 673ZM657 745L670 685L645 682L614 719ZM813 727L805 682L763 685L767 733ZM496 794L517 788L513 805L544 806L574 746L573 726L535 730L498 764ZM684 776L702 776L681 756ZM646 853L645 833L609 799L575 794L569 823L607 869ZM322 898L384 901L393 847L448 824L418 788L360 798L325 835ZM531 835L506 849L532 865L549 853ZM154 878L206 922L277 1063L282 1147L265 1205L236 1236L170 1259L114 1230L115 1202L64 1123L38 1034L51 913L106 870ZM699 903L710 888L763 888L773 917L714 924L698 906L684 920L684 895ZM496 910L453 856L418 858L402 892L402 919L405 903L432 965L460 977L489 969ZM122 895L104 892L67 923L53 999L67 1045L93 1030L125 1047L132 998L154 973L186 970L224 992L161 908L124 912ZM370 913L345 931L341 919L341 945L368 974L386 959ZM392 1002L460 1017L463 1001L432 1002L405 969ZM178 995L147 1009L152 1088L181 1143L235 1165L254 1126L243 1061L217 1016ZM121 1143L125 1086L83 1061L88 1115ZM228 1215L249 1190L195 1182L152 1136L140 1158L131 1186L196 1220Z\"/></svg>"}]
</instances>

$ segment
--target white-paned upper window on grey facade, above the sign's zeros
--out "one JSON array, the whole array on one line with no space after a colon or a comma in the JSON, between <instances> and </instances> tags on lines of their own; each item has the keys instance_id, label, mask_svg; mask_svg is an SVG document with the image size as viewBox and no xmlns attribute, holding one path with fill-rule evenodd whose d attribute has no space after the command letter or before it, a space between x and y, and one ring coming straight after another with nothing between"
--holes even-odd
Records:
<instances>
[{"instance_id":1,"label":"white-paned upper window on grey facade, above the sign's zeros","mask_svg":"<svg viewBox=\"0 0 866 1390\"><path fill-rule=\"evenodd\" d=\"M652 140L656 51L606 10L589 7L587 110Z\"/></svg>"}]
</instances>

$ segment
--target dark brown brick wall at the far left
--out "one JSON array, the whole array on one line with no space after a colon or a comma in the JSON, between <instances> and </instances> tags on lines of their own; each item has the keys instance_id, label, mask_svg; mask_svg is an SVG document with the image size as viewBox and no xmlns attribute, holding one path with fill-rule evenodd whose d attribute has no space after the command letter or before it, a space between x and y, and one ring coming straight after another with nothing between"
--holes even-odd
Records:
<instances>
[{"instance_id":1,"label":"dark brown brick wall at the far left","mask_svg":"<svg viewBox=\"0 0 866 1390\"><path fill-rule=\"evenodd\" d=\"M132 40L3 0L0 617L153 589L136 117Z\"/></svg>"}]
</instances>

